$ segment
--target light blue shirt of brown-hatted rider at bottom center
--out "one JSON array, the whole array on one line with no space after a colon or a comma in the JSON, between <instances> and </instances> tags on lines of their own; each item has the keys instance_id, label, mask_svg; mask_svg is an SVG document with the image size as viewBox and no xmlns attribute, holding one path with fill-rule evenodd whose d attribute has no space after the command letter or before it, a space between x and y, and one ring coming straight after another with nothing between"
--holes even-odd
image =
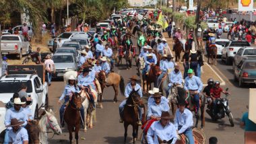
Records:
<instances>
[{"instance_id":1,"label":"light blue shirt of brown-hatted rider at bottom center","mask_svg":"<svg viewBox=\"0 0 256 144\"><path fill-rule=\"evenodd\" d=\"M147 133L148 143L158 144L158 137L162 141L170 141L172 139L172 144L176 143L177 132L174 125L168 122L166 126L163 127L160 120L153 122Z\"/></svg>"}]
</instances>

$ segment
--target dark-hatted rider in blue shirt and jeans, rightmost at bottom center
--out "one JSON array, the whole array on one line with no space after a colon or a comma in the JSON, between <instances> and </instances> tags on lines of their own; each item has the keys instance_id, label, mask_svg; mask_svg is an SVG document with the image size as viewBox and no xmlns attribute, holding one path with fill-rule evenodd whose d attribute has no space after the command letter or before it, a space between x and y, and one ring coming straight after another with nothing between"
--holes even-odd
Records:
<instances>
[{"instance_id":1,"label":"dark-hatted rider in blue shirt and jeans, rightmost at bottom center","mask_svg":"<svg viewBox=\"0 0 256 144\"><path fill-rule=\"evenodd\" d=\"M189 139L189 144L194 144L195 141L192 133L193 114L190 110L185 108L185 106L185 100L178 101L178 109L175 112L174 126L178 135L186 135L187 139Z\"/></svg>"}]
</instances>

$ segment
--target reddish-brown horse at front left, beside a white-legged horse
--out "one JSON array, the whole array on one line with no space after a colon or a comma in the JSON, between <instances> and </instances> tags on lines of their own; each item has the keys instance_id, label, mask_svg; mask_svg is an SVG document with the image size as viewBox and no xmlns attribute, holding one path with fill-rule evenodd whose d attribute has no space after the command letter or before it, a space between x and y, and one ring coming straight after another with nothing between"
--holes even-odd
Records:
<instances>
[{"instance_id":1,"label":"reddish-brown horse at front left, beside a white-legged horse","mask_svg":"<svg viewBox=\"0 0 256 144\"><path fill-rule=\"evenodd\" d=\"M80 109L82 108L82 97L75 93L71 97L67 108L64 113L64 120L67 123L67 129L69 130L69 142L72 143L72 132L75 131L75 140L78 144L78 131L81 124Z\"/></svg>"}]
</instances>

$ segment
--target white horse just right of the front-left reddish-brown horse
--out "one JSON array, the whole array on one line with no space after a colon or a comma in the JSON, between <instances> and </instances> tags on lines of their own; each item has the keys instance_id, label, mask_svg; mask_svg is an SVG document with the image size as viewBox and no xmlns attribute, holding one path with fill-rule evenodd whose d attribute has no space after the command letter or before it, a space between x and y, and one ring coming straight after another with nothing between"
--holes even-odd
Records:
<instances>
[{"instance_id":1,"label":"white horse just right of the front-left reddish-brown horse","mask_svg":"<svg viewBox=\"0 0 256 144\"><path fill-rule=\"evenodd\" d=\"M91 92L96 97L96 98L94 98L94 102L96 105L97 100L98 100L98 93L94 89L91 89ZM94 121L96 121L96 109L90 110L90 106L89 106L90 102L86 95L87 94L84 91L82 91L82 93L80 95L80 96L82 96L82 100L84 100L84 102L82 102L82 105L84 107L84 120L86 121L84 123L84 132L87 131L87 125L88 125L88 128L92 128L92 122L93 122L92 118L94 118Z\"/></svg>"}]
</instances>

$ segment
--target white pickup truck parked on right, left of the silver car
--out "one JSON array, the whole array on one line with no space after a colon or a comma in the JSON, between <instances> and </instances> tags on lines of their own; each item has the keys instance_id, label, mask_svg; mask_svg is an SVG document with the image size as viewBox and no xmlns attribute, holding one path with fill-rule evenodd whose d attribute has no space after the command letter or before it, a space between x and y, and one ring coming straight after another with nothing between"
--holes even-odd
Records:
<instances>
[{"instance_id":1,"label":"white pickup truck parked on right, left of the silver car","mask_svg":"<svg viewBox=\"0 0 256 144\"><path fill-rule=\"evenodd\" d=\"M247 41L230 41L222 49L222 61L226 61L226 65L231 65L234 59L234 52L237 52L240 48L245 46L251 46Z\"/></svg>"}]
</instances>

